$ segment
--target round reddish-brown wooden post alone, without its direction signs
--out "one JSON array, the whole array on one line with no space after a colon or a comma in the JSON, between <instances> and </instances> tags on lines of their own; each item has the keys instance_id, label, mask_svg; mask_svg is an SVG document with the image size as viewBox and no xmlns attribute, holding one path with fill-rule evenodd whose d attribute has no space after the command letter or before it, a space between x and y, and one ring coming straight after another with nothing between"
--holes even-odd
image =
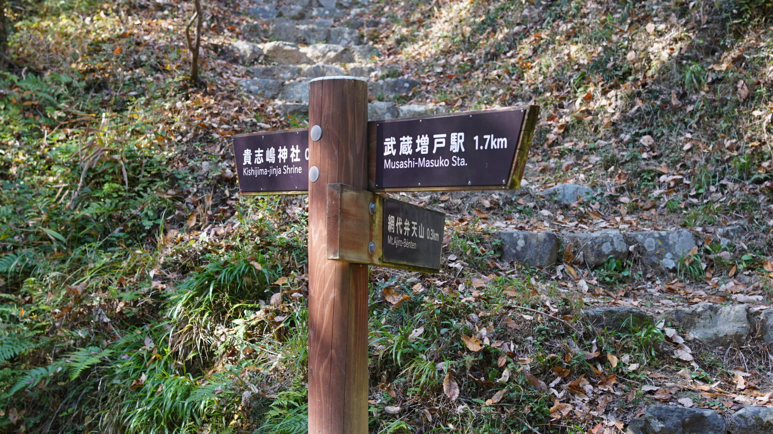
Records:
<instances>
[{"instance_id":1,"label":"round reddish-brown wooden post alone, without its direction signs","mask_svg":"<svg viewBox=\"0 0 773 434\"><path fill-rule=\"evenodd\" d=\"M308 83L308 432L368 432L368 266L327 259L328 184L367 188L367 82ZM314 141L314 127L322 137ZM363 210L367 212L367 210Z\"/></svg>"}]
</instances>

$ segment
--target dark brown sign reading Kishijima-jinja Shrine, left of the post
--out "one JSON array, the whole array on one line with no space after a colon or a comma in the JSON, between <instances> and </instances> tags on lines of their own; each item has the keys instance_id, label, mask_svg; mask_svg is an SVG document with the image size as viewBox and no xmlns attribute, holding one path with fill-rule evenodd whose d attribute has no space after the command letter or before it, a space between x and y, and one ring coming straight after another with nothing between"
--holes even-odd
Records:
<instances>
[{"instance_id":1,"label":"dark brown sign reading Kishijima-jinja Shrine, left of the post","mask_svg":"<svg viewBox=\"0 0 773 434\"><path fill-rule=\"evenodd\" d=\"M308 128L239 134L233 153L240 194L308 192Z\"/></svg>"}]
</instances>

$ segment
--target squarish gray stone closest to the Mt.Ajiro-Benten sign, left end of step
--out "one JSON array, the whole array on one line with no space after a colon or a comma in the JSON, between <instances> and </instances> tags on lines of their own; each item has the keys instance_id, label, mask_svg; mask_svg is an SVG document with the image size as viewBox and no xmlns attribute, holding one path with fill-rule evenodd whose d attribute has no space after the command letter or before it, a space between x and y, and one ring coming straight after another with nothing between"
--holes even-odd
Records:
<instances>
[{"instance_id":1,"label":"squarish gray stone closest to the Mt.Ajiro-Benten sign, left end of step","mask_svg":"<svg viewBox=\"0 0 773 434\"><path fill-rule=\"evenodd\" d=\"M502 260L547 268L556 263L559 240L553 232L500 232Z\"/></svg>"}]
</instances>

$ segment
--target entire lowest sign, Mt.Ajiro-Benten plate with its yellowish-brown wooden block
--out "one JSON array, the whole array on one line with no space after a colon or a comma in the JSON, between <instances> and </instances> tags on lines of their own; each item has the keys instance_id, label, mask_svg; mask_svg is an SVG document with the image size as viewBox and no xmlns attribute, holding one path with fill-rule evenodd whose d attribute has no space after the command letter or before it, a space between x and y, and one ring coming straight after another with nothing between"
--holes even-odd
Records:
<instances>
[{"instance_id":1,"label":"entire lowest sign, Mt.Ajiro-Benten plate with its yellowish-brown wooden block","mask_svg":"<svg viewBox=\"0 0 773 434\"><path fill-rule=\"evenodd\" d=\"M327 219L328 259L424 273L440 270L442 212L330 184Z\"/></svg>"}]
</instances>

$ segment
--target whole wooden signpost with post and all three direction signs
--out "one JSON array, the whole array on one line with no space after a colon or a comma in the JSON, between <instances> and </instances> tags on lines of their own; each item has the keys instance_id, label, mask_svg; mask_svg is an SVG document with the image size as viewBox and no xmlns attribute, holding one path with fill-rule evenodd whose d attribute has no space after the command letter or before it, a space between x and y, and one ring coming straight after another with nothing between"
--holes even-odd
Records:
<instances>
[{"instance_id":1,"label":"whole wooden signpost with post and all three direction signs","mask_svg":"<svg viewBox=\"0 0 773 434\"><path fill-rule=\"evenodd\" d=\"M308 432L368 432L368 266L437 273L445 215L378 192L518 188L539 107L367 121L367 82L311 80L312 127L233 137L242 195L308 192Z\"/></svg>"}]
</instances>

